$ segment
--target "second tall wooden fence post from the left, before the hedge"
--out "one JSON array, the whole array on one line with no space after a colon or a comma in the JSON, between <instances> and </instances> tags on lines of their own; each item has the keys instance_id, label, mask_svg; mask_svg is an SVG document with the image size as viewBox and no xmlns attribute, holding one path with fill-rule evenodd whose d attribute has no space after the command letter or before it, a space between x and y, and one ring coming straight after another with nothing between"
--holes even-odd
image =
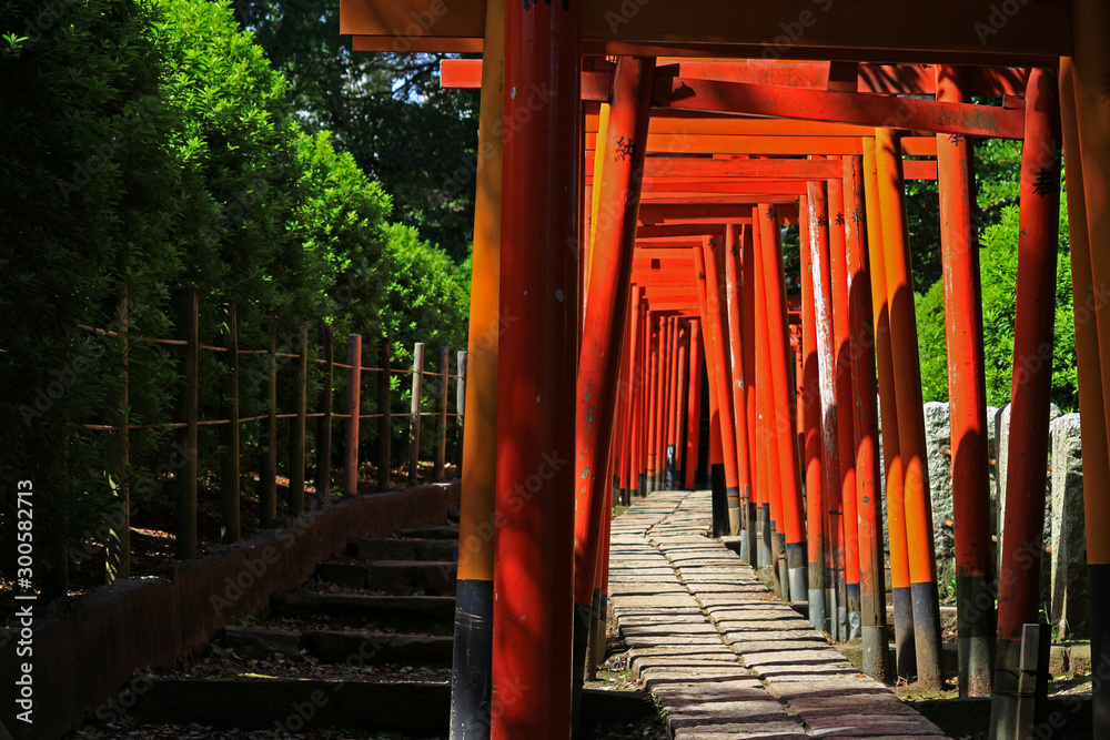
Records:
<instances>
[{"instance_id":1,"label":"second tall wooden fence post from the left, before the hedge","mask_svg":"<svg viewBox=\"0 0 1110 740\"><path fill-rule=\"evenodd\" d=\"M178 312L178 332L184 339L182 375L185 387L181 392L178 418L185 424L178 428L176 454L184 460L174 481L176 487L176 523L174 525L174 557L188 560L196 556L196 430L200 393L200 303L196 291L183 291Z\"/></svg>"}]
</instances>

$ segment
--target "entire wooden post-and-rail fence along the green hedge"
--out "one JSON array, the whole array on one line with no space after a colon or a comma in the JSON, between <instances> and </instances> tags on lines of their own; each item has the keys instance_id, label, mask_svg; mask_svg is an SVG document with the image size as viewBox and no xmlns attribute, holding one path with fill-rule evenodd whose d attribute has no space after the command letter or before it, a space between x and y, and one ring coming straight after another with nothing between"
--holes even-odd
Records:
<instances>
[{"instance_id":1,"label":"entire wooden post-and-rail fence along the green hedge","mask_svg":"<svg viewBox=\"0 0 1110 740\"><path fill-rule=\"evenodd\" d=\"M353 495L359 489L359 439L361 423L366 419L379 420L379 455L377 455L377 485L379 491L389 490L391 487L391 452L390 440L396 420L404 422L408 434L407 455L407 477L412 484L420 481L420 435L422 419L434 417L434 435L436 439L435 457L433 460L433 479L442 481L446 468L447 448L447 426L450 419L456 419L456 438L462 439L460 429L463 422L463 398L466 382L466 353L458 352L456 359L456 373L451 373L450 356L447 347L440 348L437 372L424 369L424 344L416 343L413 351L413 366L411 368L393 368L391 361L391 345L387 337L379 342L379 367L364 366L362 364L362 336L351 334L347 337L347 357L345 363L335 362L333 330L322 326L317 333L317 346L321 356L313 361L313 365L322 374L320 393L315 398L314 410L309 410L307 398L307 368L309 368L309 326L307 323L301 325L296 335L299 346L297 352L278 352L278 322L271 315L266 327L269 346L264 349L240 348L238 338L238 317L235 305L224 303L219 306L221 311L221 336L219 344L201 344L200 342L200 304L195 291L185 291L181 295L179 307L179 332L178 338L163 337L138 337L129 330L127 298L120 298L118 303L118 328L119 331L102 330L94 326L78 325L78 328L114 338L123 344L123 362L120 366L120 379L122 389L117 401L122 409L122 416L118 424L79 424L82 428L94 432L111 433L112 444L108 445L107 469L113 479L112 488L114 504L118 514L109 517L109 533L105 538L108 547L108 580L115 578L127 578L131 575L131 553L130 553L130 489L132 483L129 479L129 435L132 430L140 429L172 429L175 434L176 448L183 450L184 459L174 476L174 493L176 520L174 524L175 557L186 559L196 555L196 495L198 478L200 475L198 430L201 427L220 427L221 429L221 454L220 454L220 529L221 541L230 544L236 541L241 536L240 515L242 511L242 500L240 483L242 478L240 428L244 424L263 423L261 447L263 455L259 465L259 520L261 526L270 524L278 515L278 423L290 424L290 460L285 473L289 477L289 486L285 496L285 511L293 516L303 514L305 509L305 476L306 476L306 425L307 419L316 419L315 429L315 470L313 480L315 483L314 505L324 505L331 498L332 489L332 450L339 446L342 454L342 473L339 488L344 495ZM128 395L128 345L138 342L151 342L159 345L179 348L181 373L184 378L182 392L178 399L178 419L167 423L132 424L130 422L130 406ZM221 402L221 412L224 418L201 419L201 374L199 357L201 351L221 353L224 357L225 372L222 384L216 385L216 393ZM265 403L269 412L249 417L241 417L240 393L242 382L240 378L239 358L242 355L263 355L268 362L264 371L264 393L261 401ZM278 408L278 368L279 358L292 359L289 363L293 373L293 410L279 413ZM345 399L341 402L340 410L335 409L335 371L345 374L346 391ZM376 377L377 385L377 407L374 414L361 413L363 374L372 373ZM412 403L408 413L394 413L392 406L391 376L412 376ZM424 381L425 378L436 378L438 388L435 394L434 410L424 410ZM456 409L447 409L448 384L455 382L456 386ZM333 435L335 422L343 423L343 432ZM337 439L335 439L337 437Z\"/></svg>"}]
</instances>

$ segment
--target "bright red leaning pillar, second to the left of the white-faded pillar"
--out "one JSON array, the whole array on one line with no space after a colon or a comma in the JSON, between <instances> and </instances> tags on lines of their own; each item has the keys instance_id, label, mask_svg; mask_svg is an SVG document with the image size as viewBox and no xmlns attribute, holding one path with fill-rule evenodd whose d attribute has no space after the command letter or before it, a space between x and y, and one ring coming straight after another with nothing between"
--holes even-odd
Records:
<instances>
[{"instance_id":1,"label":"bright red leaning pillar, second to the left of the white-faded pillar","mask_svg":"<svg viewBox=\"0 0 1110 740\"><path fill-rule=\"evenodd\" d=\"M809 598L806 574L806 534L801 514L801 484L798 468L794 408L794 384L790 383L790 342L786 316L786 275L783 271L783 240L778 209L761 203L756 214L760 229L759 261L763 266L763 286L767 311L767 348L771 393L775 401L771 414L774 437L777 443L781 519L779 535L786 551L789 598L804 601ZM784 581L784 586L786 582Z\"/></svg>"}]
</instances>

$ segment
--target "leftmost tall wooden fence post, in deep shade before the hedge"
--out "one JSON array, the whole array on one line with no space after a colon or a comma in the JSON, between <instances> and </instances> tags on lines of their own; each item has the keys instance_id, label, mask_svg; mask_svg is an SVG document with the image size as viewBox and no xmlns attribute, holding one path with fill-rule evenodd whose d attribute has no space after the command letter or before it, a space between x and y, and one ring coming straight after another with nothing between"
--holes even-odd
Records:
<instances>
[{"instance_id":1,"label":"leftmost tall wooden fence post, in deep shade before the hedge","mask_svg":"<svg viewBox=\"0 0 1110 740\"><path fill-rule=\"evenodd\" d=\"M115 420L115 433L109 445L108 475L113 487L112 498L118 508L108 515L108 548L105 554L105 578L112 582L117 578L131 577L131 500L128 481L128 463L130 457L130 437L128 423L131 414L128 393L128 292L124 286L122 295L117 301L117 325L121 345L120 393L117 408L120 415Z\"/></svg>"}]
</instances>

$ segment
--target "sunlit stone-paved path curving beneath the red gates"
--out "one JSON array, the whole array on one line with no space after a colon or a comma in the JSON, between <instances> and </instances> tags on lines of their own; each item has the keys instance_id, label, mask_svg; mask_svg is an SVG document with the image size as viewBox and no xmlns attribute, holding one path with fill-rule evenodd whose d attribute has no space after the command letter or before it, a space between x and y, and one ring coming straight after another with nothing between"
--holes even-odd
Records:
<instances>
[{"instance_id":1,"label":"sunlit stone-paved path curving beneath the red gates","mask_svg":"<svg viewBox=\"0 0 1110 740\"><path fill-rule=\"evenodd\" d=\"M947 736L855 668L709 530L708 491L613 520L609 602L675 740Z\"/></svg>"}]
</instances>

